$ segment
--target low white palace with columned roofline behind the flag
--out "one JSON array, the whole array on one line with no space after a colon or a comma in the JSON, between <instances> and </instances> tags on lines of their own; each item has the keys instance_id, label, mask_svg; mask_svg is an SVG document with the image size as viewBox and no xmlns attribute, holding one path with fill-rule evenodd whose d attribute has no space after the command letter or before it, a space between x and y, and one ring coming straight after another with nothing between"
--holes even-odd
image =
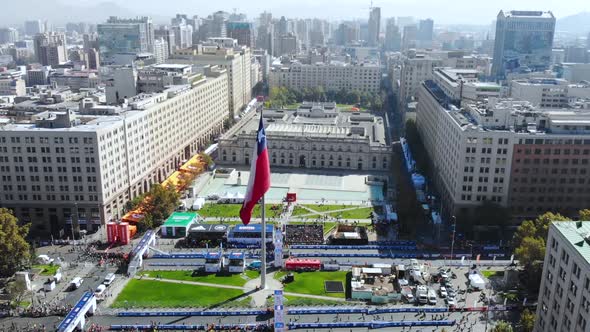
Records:
<instances>
[{"instance_id":1,"label":"low white palace with columned roofline behind the flag","mask_svg":"<svg viewBox=\"0 0 590 332\"><path fill-rule=\"evenodd\" d=\"M249 165L260 113L250 113L219 140L218 163ZM264 110L271 166L388 171L391 144L381 116L344 112L335 103Z\"/></svg>"}]
</instances>

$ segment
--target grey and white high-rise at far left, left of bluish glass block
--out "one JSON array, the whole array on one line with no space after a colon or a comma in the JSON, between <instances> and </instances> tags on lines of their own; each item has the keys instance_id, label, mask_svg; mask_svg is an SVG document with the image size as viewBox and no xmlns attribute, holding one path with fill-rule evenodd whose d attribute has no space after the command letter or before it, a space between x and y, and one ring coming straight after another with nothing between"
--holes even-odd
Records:
<instances>
[{"instance_id":1,"label":"grey and white high-rise at far left, left of bluish glass block","mask_svg":"<svg viewBox=\"0 0 590 332\"><path fill-rule=\"evenodd\" d=\"M43 66L57 67L68 61L66 36L62 33L40 33L35 35L35 56Z\"/></svg>"}]
</instances>

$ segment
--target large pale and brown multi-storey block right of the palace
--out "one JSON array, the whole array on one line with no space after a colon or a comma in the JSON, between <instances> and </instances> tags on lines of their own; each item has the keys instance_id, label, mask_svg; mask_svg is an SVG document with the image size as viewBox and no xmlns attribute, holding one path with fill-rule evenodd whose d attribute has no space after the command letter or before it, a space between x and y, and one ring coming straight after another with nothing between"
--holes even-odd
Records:
<instances>
[{"instance_id":1,"label":"large pale and brown multi-storey block right of the palace","mask_svg":"<svg viewBox=\"0 0 590 332\"><path fill-rule=\"evenodd\" d=\"M432 80L418 96L416 123L446 213L470 214L492 201L515 219L547 210L575 215L590 201L588 109L497 98L463 100L459 108Z\"/></svg>"}]
</instances>

